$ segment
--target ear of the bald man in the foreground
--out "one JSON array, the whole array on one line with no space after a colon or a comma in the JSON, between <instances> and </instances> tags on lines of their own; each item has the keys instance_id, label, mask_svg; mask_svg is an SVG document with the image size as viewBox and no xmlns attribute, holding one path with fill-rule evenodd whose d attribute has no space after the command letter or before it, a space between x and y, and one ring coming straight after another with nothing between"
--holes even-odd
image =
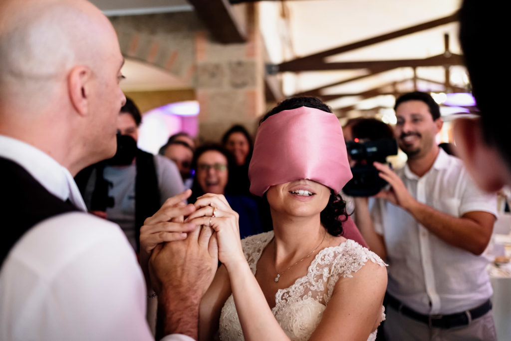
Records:
<instances>
[{"instance_id":1,"label":"ear of the bald man in the foreground","mask_svg":"<svg viewBox=\"0 0 511 341\"><path fill-rule=\"evenodd\" d=\"M73 67L67 75L69 99L75 110L82 116L88 114L91 77L90 69L83 65Z\"/></svg>"}]
</instances>

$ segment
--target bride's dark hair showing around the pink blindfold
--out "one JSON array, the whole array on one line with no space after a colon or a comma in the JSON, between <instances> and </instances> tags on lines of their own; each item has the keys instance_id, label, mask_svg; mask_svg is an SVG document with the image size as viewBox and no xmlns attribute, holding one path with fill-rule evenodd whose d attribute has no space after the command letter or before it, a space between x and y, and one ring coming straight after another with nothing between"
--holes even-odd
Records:
<instances>
[{"instance_id":1,"label":"bride's dark hair showing around the pink blindfold","mask_svg":"<svg viewBox=\"0 0 511 341\"><path fill-rule=\"evenodd\" d=\"M268 111L261 119L260 124L268 117L281 111L296 109L303 106L332 113L332 108L315 97L293 97L278 103L276 107ZM266 195L264 195L264 198L266 199ZM328 200L327 207L325 207L320 213L321 224L323 224L329 234L337 237L342 235L342 223L347 219L348 214L346 213L346 202L339 194L335 194L334 191L330 189L330 198Z\"/></svg>"}]
</instances>

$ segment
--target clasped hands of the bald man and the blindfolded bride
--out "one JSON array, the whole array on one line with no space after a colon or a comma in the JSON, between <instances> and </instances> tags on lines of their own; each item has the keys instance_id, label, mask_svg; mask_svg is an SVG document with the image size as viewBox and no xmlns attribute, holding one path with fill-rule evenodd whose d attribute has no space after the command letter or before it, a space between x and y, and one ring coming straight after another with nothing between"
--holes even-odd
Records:
<instances>
[{"instance_id":1,"label":"clasped hands of the bald man and the blindfolded bride","mask_svg":"<svg viewBox=\"0 0 511 341\"><path fill-rule=\"evenodd\" d=\"M196 288L202 295L218 260L244 260L238 214L225 197L205 194L194 204L184 204L190 195L188 190L169 198L141 228L141 265L148 286L158 294Z\"/></svg>"}]
</instances>

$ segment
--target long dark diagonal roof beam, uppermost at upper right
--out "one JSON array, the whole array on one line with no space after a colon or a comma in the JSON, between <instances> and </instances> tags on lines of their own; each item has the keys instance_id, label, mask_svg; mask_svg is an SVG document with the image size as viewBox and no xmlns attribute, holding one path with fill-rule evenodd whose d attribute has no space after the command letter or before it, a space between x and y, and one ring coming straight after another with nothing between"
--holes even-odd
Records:
<instances>
[{"instance_id":1,"label":"long dark diagonal roof beam, uppermost at upper right","mask_svg":"<svg viewBox=\"0 0 511 341\"><path fill-rule=\"evenodd\" d=\"M285 62L283 62L283 63L278 65L278 70L279 71L284 71L284 70L288 70L289 71L290 68L296 69L297 66L301 65L302 63L308 64L311 61L322 60L323 58L326 58L326 57L329 57L329 56L333 56L333 55L336 55L336 54L340 54L340 53L344 53L344 52L360 49L360 48L363 48L363 47L366 47L366 46L370 46L370 45L373 45L373 44L376 44L376 43L379 43L379 42L383 42L383 41L386 41L386 40L390 40L390 39L394 39L394 38L399 38L399 37L402 37L402 36L405 36L405 35L408 35L408 34L420 32L420 31L424 31L424 30L428 30L428 29L431 29L431 28L434 28L434 27L437 27L437 26L440 26L440 25L450 24L451 22L455 22L457 20L458 20L457 14L454 13L452 15L449 15L449 16L446 16L446 17L443 17L443 18L439 18L439 19L436 19L436 20L424 22L423 24L411 26L411 27L408 27L408 28L405 28L405 29L402 29L402 30L393 31L393 32L382 34L382 35L379 35L379 36L376 36L376 37L373 37L373 38L369 38L369 39L365 39L365 40L360 40L360 41L357 41L357 42L354 42L354 43L351 43L351 44L346 44L344 46L340 46L340 47L337 47L337 48L334 48L334 49L331 49L331 50L327 50L327 51L315 53L315 54L312 54L312 55L309 55L309 56L300 57L300 58L296 58L296 59L293 59L293 60L285 61Z\"/></svg>"}]
</instances>

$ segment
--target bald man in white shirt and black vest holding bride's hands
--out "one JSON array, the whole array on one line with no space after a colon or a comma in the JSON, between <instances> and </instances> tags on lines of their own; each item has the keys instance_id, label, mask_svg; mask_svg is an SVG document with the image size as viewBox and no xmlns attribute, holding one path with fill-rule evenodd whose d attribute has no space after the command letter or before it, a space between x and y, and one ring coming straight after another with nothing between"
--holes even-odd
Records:
<instances>
[{"instance_id":1,"label":"bald man in white shirt and black vest holding bride's hands","mask_svg":"<svg viewBox=\"0 0 511 341\"><path fill-rule=\"evenodd\" d=\"M85 213L73 180L115 152L123 63L110 22L84 0L0 2L2 340L153 339L126 237ZM182 223L189 195L160 210L175 218L167 241L181 240L155 247L149 264L164 333L186 334L169 340L197 338L218 262L209 229Z\"/></svg>"}]
</instances>

